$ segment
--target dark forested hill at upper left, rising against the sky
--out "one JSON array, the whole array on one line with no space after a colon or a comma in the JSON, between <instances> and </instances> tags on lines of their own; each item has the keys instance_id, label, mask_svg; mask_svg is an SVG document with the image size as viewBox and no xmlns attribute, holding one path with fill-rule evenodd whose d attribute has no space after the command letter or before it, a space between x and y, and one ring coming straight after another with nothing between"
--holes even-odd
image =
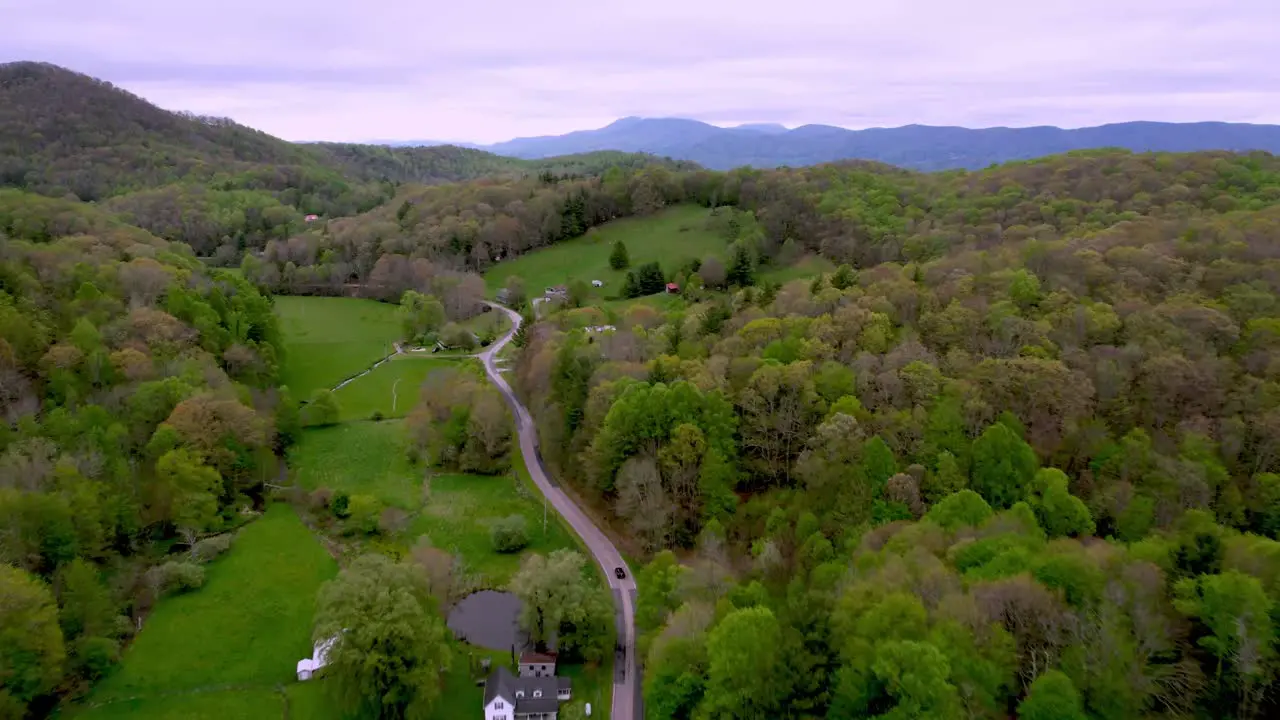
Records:
<instances>
[{"instance_id":1,"label":"dark forested hill at upper left, rising against the sky","mask_svg":"<svg viewBox=\"0 0 1280 720\"><path fill-rule=\"evenodd\" d=\"M308 214L372 209L399 183L582 177L650 164L690 167L625 152L518 160L458 147L294 145L225 118L169 113L55 65L0 64L0 186L105 202L224 265L301 233Z\"/></svg>"}]
</instances>

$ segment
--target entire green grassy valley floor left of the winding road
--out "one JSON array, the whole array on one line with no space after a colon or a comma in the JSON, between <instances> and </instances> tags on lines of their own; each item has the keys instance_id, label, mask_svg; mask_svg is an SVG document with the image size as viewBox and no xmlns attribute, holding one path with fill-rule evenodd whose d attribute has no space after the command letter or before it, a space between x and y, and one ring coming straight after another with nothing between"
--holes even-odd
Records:
<instances>
[{"instance_id":1,"label":"entire green grassy valley floor left of the winding road","mask_svg":"<svg viewBox=\"0 0 1280 720\"><path fill-rule=\"evenodd\" d=\"M396 337L390 305L278 297L276 307L291 348L284 375L305 391L294 391L300 397L367 368L385 355ZM499 327L506 331L509 325ZM339 340L325 340L326 328ZM118 671L63 715L87 720L337 720L340 714L325 682L300 683L294 676L297 660L311 652L316 593L338 571L333 555L346 557L361 550L402 555L426 538L460 557L466 587L479 589L503 588L526 553L576 547L563 520L553 509L544 509L518 451L513 466L520 470L495 477L424 473L408 461L401 418L416 404L419 387L433 369L460 363L475 361L396 356L337 391L340 421L303 430L289 454L291 471L301 488L372 496L406 514L398 532L369 539L342 537L337 527L326 525L326 514L271 505L209 566L202 588L156 606ZM374 413L387 419L370 421ZM492 547L492 524L509 515L527 521L530 544L522 553L502 555ZM457 642L433 717L481 715L481 659L497 665L509 662L511 655ZM607 719L612 661L563 671L575 679L573 702L591 702L593 717Z\"/></svg>"}]
</instances>

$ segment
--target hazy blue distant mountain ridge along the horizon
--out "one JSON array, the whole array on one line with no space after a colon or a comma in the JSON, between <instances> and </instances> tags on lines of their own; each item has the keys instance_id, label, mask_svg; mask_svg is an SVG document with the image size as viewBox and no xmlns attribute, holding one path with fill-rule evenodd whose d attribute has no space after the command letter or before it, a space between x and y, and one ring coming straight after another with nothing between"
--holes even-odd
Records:
<instances>
[{"instance_id":1,"label":"hazy blue distant mountain ridge along the horizon","mask_svg":"<svg viewBox=\"0 0 1280 720\"><path fill-rule=\"evenodd\" d=\"M426 145L426 142L422 142ZM1097 147L1133 151L1265 150L1280 154L1280 126L1129 122L1089 128L902 126L851 131L832 126L748 124L722 128L681 118L622 118L598 129L517 137L472 146L524 159L620 150L690 160L724 170L836 160L878 160L914 170L978 169L1011 160Z\"/></svg>"}]
</instances>

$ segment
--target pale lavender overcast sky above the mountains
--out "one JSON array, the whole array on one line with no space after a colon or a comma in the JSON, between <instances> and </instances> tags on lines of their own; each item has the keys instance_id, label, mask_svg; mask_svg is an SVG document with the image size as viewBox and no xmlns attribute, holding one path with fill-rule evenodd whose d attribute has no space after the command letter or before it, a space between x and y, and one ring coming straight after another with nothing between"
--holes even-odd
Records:
<instances>
[{"instance_id":1,"label":"pale lavender overcast sky above the mountains","mask_svg":"<svg viewBox=\"0 0 1280 720\"><path fill-rule=\"evenodd\" d=\"M1280 123L1280 0L0 0L42 60L285 140Z\"/></svg>"}]
</instances>

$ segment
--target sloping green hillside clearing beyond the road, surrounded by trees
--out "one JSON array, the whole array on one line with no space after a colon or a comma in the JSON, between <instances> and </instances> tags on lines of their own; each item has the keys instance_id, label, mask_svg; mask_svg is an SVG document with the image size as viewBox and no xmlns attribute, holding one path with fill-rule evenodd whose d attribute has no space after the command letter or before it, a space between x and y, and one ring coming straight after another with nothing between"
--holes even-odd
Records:
<instances>
[{"instance_id":1,"label":"sloping green hillside clearing beyond the road, surrounded by trees","mask_svg":"<svg viewBox=\"0 0 1280 720\"><path fill-rule=\"evenodd\" d=\"M529 295L536 297L550 286L598 279L605 283L596 290L602 297L616 296L627 273L609 266L613 243L620 240L627 246L631 268L657 260L664 272L673 273L694 258L726 256L728 243L705 229L709 214L710 210L698 205L677 205L649 217L605 223L588 236L498 263L485 273L485 284L497 292L508 277L518 275L525 279Z\"/></svg>"}]
</instances>

